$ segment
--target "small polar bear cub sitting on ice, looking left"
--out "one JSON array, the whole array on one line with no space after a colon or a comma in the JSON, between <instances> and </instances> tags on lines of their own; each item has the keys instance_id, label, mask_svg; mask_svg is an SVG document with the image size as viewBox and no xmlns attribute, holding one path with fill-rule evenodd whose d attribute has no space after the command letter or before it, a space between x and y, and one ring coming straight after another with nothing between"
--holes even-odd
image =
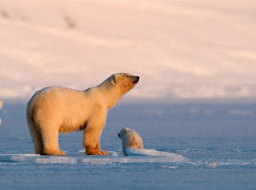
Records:
<instances>
[{"instance_id":1,"label":"small polar bear cub sitting on ice, looking left","mask_svg":"<svg viewBox=\"0 0 256 190\"><path fill-rule=\"evenodd\" d=\"M126 148L144 148L143 140L135 130L125 127L118 133L118 136L122 139L122 149L125 156L128 156L128 154L126 154Z\"/></svg>"}]
</instances>

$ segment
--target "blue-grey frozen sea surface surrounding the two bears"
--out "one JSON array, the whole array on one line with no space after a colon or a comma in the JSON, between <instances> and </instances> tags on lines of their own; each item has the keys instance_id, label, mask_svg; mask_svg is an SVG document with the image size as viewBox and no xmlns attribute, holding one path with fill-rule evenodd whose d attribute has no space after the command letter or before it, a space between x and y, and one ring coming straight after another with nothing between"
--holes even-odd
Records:
<instances>
[{"instance_id":1,"label":"blue-grey frozen sea surface surrounding the two bears","mask_svg":"<svg viewBox=\"0 0 256 190\"><path fill-rule=\"evenodd\" d=\"M255 103L121 102L102 134L108 157L85 156L82 133L60 136L65 157L33 154L25 110L6 102L0 110L0 189L256 189ZM189 161L123 157L124 126L145 148Z\"/></svg>"}]
</instances>

